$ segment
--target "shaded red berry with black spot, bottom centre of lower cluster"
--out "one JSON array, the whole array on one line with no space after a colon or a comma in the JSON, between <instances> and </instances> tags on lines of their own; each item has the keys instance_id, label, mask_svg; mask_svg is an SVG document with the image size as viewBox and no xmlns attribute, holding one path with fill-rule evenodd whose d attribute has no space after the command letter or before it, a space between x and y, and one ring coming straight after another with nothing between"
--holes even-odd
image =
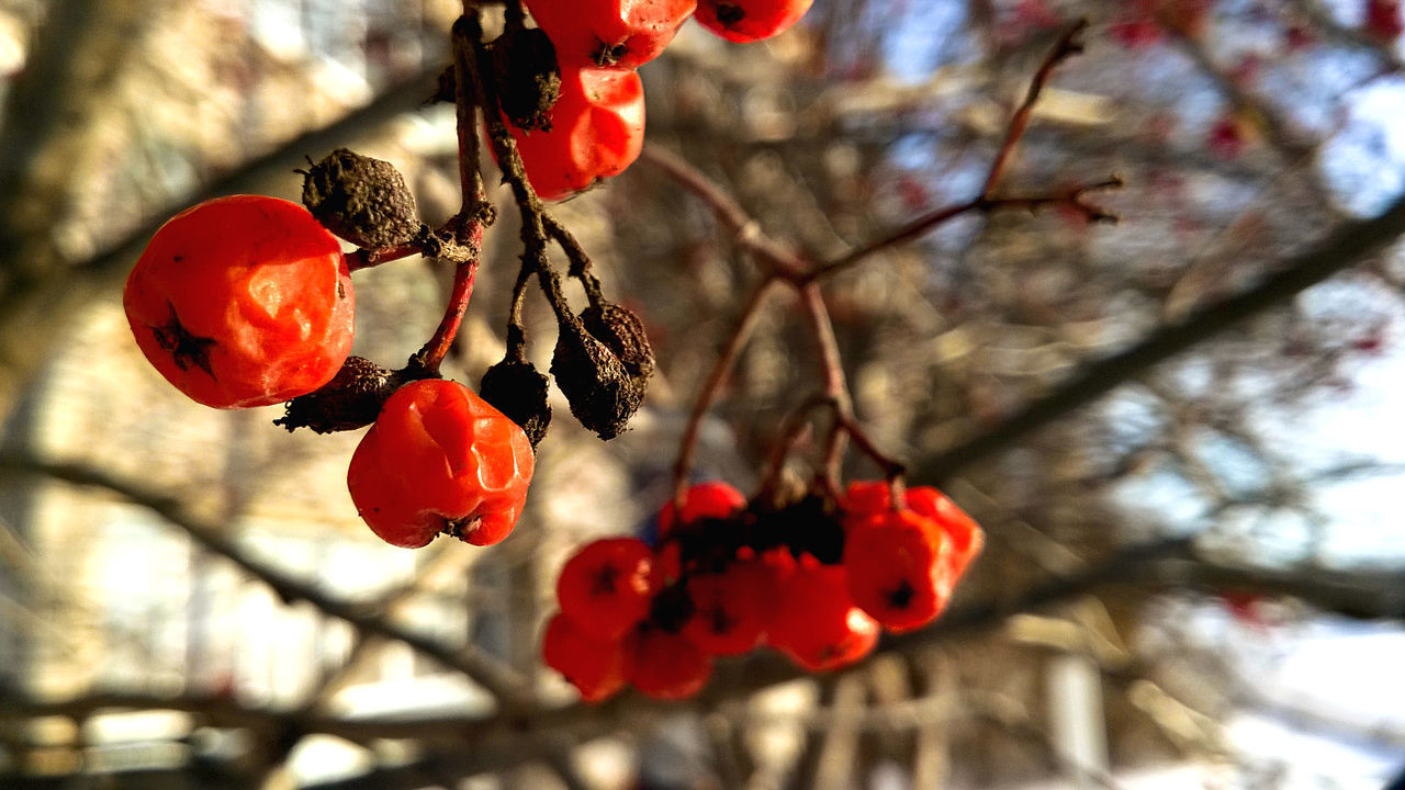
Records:
<instances>
[{"instance_id":1,"label":"shaded red berry with black spot, bottom centre of lower cluster","mask_svg":"<svg viewBox=\"0 0 1405 790\"><path fill-rule=\"evenodd\" d=\"M762 562L735 562L719 574L691 576L687 585L693 616L683 635L702 652L740 655L760 644L774 602L773 576Z\"/></svg>"}]
</instances>

